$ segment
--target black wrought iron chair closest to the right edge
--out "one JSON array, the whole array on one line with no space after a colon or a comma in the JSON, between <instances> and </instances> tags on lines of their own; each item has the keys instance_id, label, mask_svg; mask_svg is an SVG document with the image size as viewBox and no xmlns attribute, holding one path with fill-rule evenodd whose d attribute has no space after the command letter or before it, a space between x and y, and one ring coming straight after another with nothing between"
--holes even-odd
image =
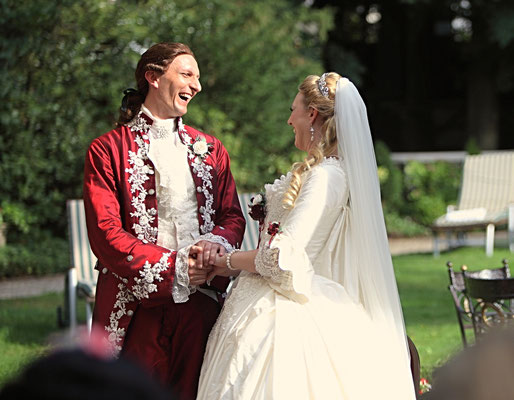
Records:
<instances>
[{"instance_id":1,"label":"black wrought iron chair closest to the right edge","mask_svg":"<svg viewBox=\"0 0 514 400\"><path fill-rule=\"evenodd\" d=\"M507 260L495 269L468 271L461 267L464 293L468 299L475 339L490 328L514 321L514 278Z\"/></svg>"}]
</instances>

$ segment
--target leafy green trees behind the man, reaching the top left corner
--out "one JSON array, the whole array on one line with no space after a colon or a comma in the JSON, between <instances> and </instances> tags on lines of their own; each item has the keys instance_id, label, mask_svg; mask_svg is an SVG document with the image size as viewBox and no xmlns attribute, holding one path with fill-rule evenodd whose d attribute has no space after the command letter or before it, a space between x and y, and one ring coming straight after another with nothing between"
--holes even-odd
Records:
<instances>
[{"instance_id":1,"label":"leafy green trees behind the man, reaching the top left corner","mask_svg":"<svg viewBox=\"0 0 514 400\"><path fill-rule=\"evenodd\" d=\"M195 51L203 92L185 122L221 138L240 190L300 157L285 122L297 85L322 71L326 11L288 0L0 0L0 10L0 204L22 212L32 238L64 236L87 146L112 128L155 42Z\"/></svg>"}]
</instances>

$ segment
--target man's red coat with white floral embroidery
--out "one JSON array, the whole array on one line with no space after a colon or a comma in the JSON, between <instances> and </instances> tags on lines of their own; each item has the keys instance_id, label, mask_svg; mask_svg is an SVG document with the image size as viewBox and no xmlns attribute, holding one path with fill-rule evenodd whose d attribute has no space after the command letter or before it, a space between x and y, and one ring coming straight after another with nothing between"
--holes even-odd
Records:
<instances>
[{"instance_id":1,"label":"man's red coat with white floral embroidery","mask_svg":"<svg viewBox=\"0 0 514 400\"><path fill-rule=\"evenodd\" d=\"M179 249L156 244L155 168L148 158L151 124L152 120L140 113L128 125L95 139L86 156L84 206L89 241L100 271L93 321L105 327L115 352L123 347L138 305L147 308L173 303ZM237 248L245 222L228 153L215 137L184 126L180 120L178 124L197 188L199 239L214 236L225 247ZM207 141L206 153L193 148L200 139ZM215 279L224 290L228 280Z\"/></svg>"}]
</instances>

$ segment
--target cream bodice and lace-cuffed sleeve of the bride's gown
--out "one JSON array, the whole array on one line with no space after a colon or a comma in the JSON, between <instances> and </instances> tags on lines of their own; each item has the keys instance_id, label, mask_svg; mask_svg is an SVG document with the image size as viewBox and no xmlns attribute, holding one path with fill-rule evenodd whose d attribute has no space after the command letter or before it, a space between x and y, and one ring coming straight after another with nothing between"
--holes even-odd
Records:
<instances>
[{"instance_id":1,"label":"cream bodice and lace-cuffed sleeve of the bride's gown","mask_svg":"<svg viewBox=\"0 0 514 400\"><path fill-rule=\"evenodd\" d=\"M336 277L323 254L336 222L344 224L347 203L345 175L338 159L326 158L305 173L293 209L283 206L292 174L265 186L266 219L255 258L256 271L279 292L297 297L307 295L309 276ZM275 224L275 229L269 227ZM323 253L323 254L322 254Z\"/></svg>"}]
</instances>

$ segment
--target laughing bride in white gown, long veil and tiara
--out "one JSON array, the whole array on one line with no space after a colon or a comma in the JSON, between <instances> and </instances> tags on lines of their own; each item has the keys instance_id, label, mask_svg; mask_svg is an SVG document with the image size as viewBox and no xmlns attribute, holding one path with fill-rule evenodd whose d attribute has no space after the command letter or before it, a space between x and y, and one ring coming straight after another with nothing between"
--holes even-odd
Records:
<instances>
[{"instance_id":1,"label":"laughing bride in white gown, long veil and tiara","mask_svg":"<svg viewBox=\"0 0 514 400\"><path fill-rule=\"evenodd\" d=\"M365 105L308 76L288 124L308 158L266 185L257 250L209 337L198 399L414 399Z\"/></svg>"}]
</instances>

